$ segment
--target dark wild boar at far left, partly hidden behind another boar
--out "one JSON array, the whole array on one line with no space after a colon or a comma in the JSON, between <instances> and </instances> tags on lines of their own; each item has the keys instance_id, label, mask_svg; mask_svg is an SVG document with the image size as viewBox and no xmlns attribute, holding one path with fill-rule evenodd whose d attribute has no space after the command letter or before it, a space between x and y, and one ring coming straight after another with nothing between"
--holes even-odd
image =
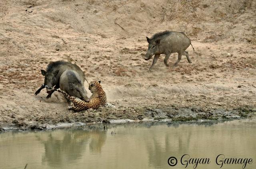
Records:
<instances>
[{"instance_id":1,"label":"dark wild boar at far left, partly hidden behind another boar","mask_svg":"<svg viewBox=\"0 0 256 169\"><path fill-rule=\"evenodd\" d=\"M74 70L80 76L81 82L84 84L85 75L83 71L75 64L66 61L55 61L47 65L46 71L41 70L44 76L44 84L35 92L35 95L39 94L43 88L47 89L48 95L46 98L50 98L54 90L52 88L60 88L60 76L66 70Z\"/></svg>"}]
</instances>

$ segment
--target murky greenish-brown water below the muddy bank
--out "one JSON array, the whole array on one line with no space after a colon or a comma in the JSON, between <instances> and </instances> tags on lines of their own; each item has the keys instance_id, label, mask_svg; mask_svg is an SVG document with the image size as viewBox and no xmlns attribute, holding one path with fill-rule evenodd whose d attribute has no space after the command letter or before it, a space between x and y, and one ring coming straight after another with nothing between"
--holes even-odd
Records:
<instances>
[{"instance_id":1,"label":"murky greenish-brown water below the muddy bank","mask_svg":"<svg viewBox=\"0 0 256 169\"><path fill-rule=\"evenodd\" d=\"M112 134L111 134L112 133ZM114 133L114 134L113 134ZM215 159L252 158L256 168L256 118L218 124L123 124L108 130L54 130L0 134L0 169L184 169L180 158L209 158L197 169L218 169ZM175 167L168 158L178 159ZM186 169L192 169L188 165ZM222 169L242 169L224 165Z\"/></svg>"}]
</instances>

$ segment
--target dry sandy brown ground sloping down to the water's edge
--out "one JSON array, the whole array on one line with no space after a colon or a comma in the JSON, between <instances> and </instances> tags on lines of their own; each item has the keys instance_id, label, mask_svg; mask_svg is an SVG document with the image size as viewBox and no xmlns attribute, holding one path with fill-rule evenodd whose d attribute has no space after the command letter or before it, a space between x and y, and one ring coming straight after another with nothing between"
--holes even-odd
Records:
<instances>
[{"instance_id":1,"label":"dry sandy brown ground sloping down to the water's edge","mask_svg":"<svg viewBox=\"0 0 256 169\"><path fill-rule=\"evenodd\" d=\"M2 127L218 120L256 112L254 0L2 0L0 11ZM173 67L173 53L166 67L161 55L149 72L146 36L164 30L190 37L192 63L183 56ZM72 112L59 93L34 96L44 80L40 69L57 60L76 63L88 81L101 80L118 108Z\"/></svg>"}]
</instances>

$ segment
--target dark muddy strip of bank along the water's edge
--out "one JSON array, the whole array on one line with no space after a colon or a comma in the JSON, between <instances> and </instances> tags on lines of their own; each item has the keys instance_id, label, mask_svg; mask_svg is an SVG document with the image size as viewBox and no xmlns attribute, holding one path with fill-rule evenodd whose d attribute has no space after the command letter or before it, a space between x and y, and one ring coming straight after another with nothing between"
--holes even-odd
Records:
<instances>
[{"instance_id":1,"label":"dark muddy strip of bank along the water's edge","mask_svg":"<svg viewBox=\"0 0 256 169\"><path fill-rule=\"evenodd\" d=\"M1 123L0 132L22 131L22 130L54 130L58 128L77 128L81 126L104 126L106 124L120 124L130 122L220 122L224 120L234 120L250 118L255 116L256 108L240 107L232 110L207 109L198 107L144 107L112 110L104 112L100 110L87 110L84 112L73 112L64 114L54 123L50 118L35 120L14 120L12 124ZM125 116L116 116L117 114ZM114 117L115 116L115 117ZM113 118L114 117L114 118Z\"/></svg>"}]
</instances>

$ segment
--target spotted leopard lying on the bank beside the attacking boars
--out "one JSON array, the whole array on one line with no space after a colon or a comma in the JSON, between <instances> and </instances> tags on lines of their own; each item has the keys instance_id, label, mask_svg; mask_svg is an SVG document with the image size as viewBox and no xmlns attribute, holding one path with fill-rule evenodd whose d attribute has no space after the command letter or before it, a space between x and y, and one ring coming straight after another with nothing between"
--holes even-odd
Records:
<instances>
[{"instance_id":1,"label":"spotted leopard lying on the bank beside the attacking boars","mask_svg":"<svg viewBox=\"0 0 256 169\"><path fill-rule=\"evenodd\" d=\"M106 93L102 89L100 81L92 81L89 84L89 90L92 92L92 96L90 97L89 102L85 102L84 100L81 100L80 98L74 96L70 96L63 90L55 90L64 94L64 96L66 96L66 98L71 101L71 106L68 106L68 110L82 111L89 108L98 109L99 107L116 108L116 106L107 102Z\"/></svg>"}]
</instances>

